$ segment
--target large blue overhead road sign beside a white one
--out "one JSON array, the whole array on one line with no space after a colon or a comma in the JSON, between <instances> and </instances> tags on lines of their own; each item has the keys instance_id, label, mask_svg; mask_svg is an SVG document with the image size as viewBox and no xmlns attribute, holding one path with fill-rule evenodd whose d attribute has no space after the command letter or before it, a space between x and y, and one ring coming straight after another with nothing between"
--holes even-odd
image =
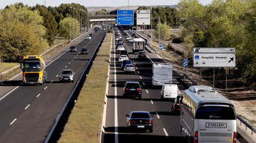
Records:
<instances>
[{"instance_id":1,"label":"large blue overhead road sign beside a white one","mask_svg":"<svg viewBox=\"0 0 256 143\"><path fill-rule=\"evenodd\" d=\"M118 10L117 25L133 25L133 10Z\"/></svg>"}]
</instances>

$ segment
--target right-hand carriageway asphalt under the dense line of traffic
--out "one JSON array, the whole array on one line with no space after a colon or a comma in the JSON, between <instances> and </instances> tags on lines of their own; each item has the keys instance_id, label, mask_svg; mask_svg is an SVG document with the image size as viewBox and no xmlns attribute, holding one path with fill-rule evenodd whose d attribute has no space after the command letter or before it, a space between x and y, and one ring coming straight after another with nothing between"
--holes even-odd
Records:
<instances>
[{"instance_id":1,"label":"right-hand carriageway asphalt under the dense line of traffic","mask_svg":"<svg viewBox=\"0 0 256 143\"><path fill-rule=\"evenodd\" d=\"M122 34L122 33L121 33ZM132 35L132 32L129 32ZM126 36L123 36L125 39ZM152 63L167 63L156 54L147 52L148 58L138 59L138 54L131 53L132 44L125 42L126 50L129 50L129 59L136 66L135 74L127 74L121 70L118 62L119 53L116 52L116 43L113 39L110 55L110 77L108 89L108 102L105 121L105 134L103 142L185 142L179 131L179 115L173 115L170 110L171 101L160 98L162 87L151 84ZM138 81L142 85L142 99L124 98L122 91L127 81ZM183 84L181 85L182 82ZM181 93L184 93L184 85L189 86L187 80L181 77L181 72L173 69L173 83L178 84ZM127 132L127 117L131 111L148 111L154 115L153 133L144 131ZM104 132L104 131L103 131ZM239 142L238 136L238 141Z\"/></svg>"}]
</instances>

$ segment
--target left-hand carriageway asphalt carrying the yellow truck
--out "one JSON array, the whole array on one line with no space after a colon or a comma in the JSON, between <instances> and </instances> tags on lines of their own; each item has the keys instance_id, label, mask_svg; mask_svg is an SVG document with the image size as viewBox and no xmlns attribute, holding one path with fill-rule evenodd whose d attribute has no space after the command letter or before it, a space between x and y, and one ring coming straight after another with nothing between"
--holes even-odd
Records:
<instances>
[{"instance_id":1,"label":"left-hand carriageway asphalt carrying the yellow truck","mask_svg":"<svg viewBox=\"0 0 256 143\"><path fill-rule=\"evenodd\" d=\"M68 45L44 59L48 72L44 85L23 85L21 75L4 82L0 87L0 142L44 142L105 33L94 33L91 40L86 36L72 42L77 45L77 52L69 52ZM88 55L79 54L82 47L89 49ZM75 81L59 82L61 69L75 71Z\"/></svg>"}]
</instances>

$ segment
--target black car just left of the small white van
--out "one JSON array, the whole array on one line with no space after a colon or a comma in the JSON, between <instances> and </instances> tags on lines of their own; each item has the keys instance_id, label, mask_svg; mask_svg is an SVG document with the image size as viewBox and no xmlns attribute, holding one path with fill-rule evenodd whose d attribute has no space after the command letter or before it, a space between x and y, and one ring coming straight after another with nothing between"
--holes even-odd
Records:
<instances>
[{"instance_id":1,"label":"black car just left of the small white van","mask_svg":"<svg viewBox=\"0 0 256 143\"><path fill-rule=\"evenodd\" d=\"M141 88L139 82L126 82L123 89L123 96L134 96L141 99Z\"/></svg>"}]
</instances>

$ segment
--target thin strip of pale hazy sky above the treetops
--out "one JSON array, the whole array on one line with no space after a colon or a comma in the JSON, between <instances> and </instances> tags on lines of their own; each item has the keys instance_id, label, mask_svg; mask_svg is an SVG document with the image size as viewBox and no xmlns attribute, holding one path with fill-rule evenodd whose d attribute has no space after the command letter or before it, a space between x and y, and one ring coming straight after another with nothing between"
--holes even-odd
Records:
<instances>
[{"instance_id":1,"label":"thin strip of pale hazy sky above the treetops","mask_svg":"<svg viewBox=\"0 0 256 143\"><path fill-rule=\"evenodd\" d=\"M0 9L4 9L7 5L15 4L16 2L22 2L24 5L31 7L36 4L43 5L44 2L46 7L58 7L61 4L81 4L85 7L120 7L129 5L139 6L151 6L151 5L175 5L180 0L1 0ZM200 0L203 5L211 4L212 0Z\"/></svg>"}]
</instances>

